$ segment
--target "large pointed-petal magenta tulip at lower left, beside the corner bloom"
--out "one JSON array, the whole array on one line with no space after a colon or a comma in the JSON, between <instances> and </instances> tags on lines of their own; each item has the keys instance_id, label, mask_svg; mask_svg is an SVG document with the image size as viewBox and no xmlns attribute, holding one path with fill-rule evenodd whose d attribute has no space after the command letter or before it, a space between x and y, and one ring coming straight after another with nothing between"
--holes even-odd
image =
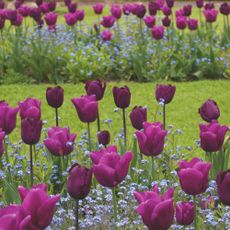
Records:
<instances>
[{"instance_id":1,"label":"large pointed-petal magenta tulip at lower left, beside the corner bloom","mask_svg":"<svg viewBox=\"0 0 230 230\"><path fill-rule=\"evenodd\" d=\"M46 184L33 186L30 190L23 186L18 187L22 207L31 216L35 229L45 229L53 219L56 203L60 195L50 197L47 194Z\"/></svg>"}]
</instances>

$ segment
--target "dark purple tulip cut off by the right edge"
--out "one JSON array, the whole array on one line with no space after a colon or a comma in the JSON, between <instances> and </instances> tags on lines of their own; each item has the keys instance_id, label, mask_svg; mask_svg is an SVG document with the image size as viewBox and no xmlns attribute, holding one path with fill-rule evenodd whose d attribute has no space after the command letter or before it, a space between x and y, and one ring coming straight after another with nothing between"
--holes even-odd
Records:
<instances>
[{"instance_id":1,"label":"dark purple tulip cut off by the right edge","mask_svg":"<svg viewBox=\"0 0 230 230\"><path fill-rule=\"evenodd\" d=\"M230 206L230 170L219 172L216 177L216 184L221 202Z\"/></svg>"}]
</instances>

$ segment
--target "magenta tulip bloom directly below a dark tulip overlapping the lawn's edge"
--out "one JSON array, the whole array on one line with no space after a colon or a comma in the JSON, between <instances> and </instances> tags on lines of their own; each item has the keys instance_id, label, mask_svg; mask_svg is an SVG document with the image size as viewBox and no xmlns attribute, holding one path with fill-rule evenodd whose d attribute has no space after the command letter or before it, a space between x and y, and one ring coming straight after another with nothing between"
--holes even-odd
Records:
<instances>
[{"instance_id":1,"label":"magenta tulip bloom directly below a dark tulip overlapping the lawn's edge","mask_svg":"<svg viewBox=\"0 0 230 230\"><path fill-rule=\"evenodd\" d=\"M72 103L77 110L79 119L82 122L93 122L98 116L98 102L95 95L73 98Z\"/></svg>"}]
</instances>

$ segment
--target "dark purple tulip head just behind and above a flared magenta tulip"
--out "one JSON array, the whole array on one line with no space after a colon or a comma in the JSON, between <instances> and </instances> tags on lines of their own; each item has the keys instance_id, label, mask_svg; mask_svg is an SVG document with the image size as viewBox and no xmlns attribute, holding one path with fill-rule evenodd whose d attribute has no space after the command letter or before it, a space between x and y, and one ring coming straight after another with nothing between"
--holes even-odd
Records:
<instances>
[{"instance_id":1,"label":"dark purple tulip head just behind and above a flared magenta tulip","mask_svg":"<svg viewBox=\"0 0 230 230\"><path fill-rule=\"evenodd\" d=\"M105 88L105 81L101 81L99 79L94 81L86 81L85 83L85 90L87 95L95 95L97 101L100 101L104 97Z\"/></svg>"}]
</instances>

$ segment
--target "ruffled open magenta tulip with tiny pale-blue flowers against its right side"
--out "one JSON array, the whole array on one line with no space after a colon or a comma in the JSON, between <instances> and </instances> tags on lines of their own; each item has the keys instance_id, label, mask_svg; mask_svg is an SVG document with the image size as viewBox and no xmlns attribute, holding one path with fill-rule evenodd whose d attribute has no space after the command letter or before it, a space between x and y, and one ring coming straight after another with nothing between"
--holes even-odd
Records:
<instances>
[{"instance_id":1,"label":"ruffled open magenta tulip with tiny pale-blue flowers against its right side","mask_svg":"<svg viewBox=\"0 0 230 230\"><path fill-rule=\"evenodd\" d=\"M48 130L48 138L43 141L46 148L55 156L66 156L73 151L76 134L69 128L53 127Z\"/></svg>"}]
</instances>

